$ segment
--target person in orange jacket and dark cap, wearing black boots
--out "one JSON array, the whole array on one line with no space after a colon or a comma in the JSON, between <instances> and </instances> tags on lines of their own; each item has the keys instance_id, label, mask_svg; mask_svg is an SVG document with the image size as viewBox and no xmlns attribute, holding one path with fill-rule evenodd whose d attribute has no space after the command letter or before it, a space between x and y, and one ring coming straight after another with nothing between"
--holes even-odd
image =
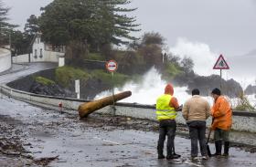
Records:
<instances>
[{"instance_id":1,"label":"person in orange jacket and dark cap, wearing black boots","mask_svg":"<svg viewBox=\"0 0 256 167\"><path fill-rule=\"evenodd\" d=\"M223 156L229 156L229 130L232 125L232 111L229 101L221 96L219 89L213 89L211 96L214 104L211 109L211 115L214 119L211 129L214 130L214 141L216 156L221 155L222 141L224 141Z\"/></svg>"}]
</instances>

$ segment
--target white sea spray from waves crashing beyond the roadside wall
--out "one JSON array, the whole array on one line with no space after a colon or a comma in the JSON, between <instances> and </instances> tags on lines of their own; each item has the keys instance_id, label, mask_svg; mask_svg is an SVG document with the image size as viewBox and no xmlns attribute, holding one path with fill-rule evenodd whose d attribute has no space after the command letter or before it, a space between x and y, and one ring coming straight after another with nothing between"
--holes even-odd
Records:
<instances>
[{"instance_id":1,"label":"white sea spray from waves crashing beyond the roadside wall","mask_svg":"<svg viewBox=\"0 0 256 167\"><path fill-rule=\"evenodd\" d=\"M183 57L191 57L194 61L195 67L194 71L201 76L209 76L211 74L219 74L219 70L214 70L213 66L219 57L219 53L214 53L210 50L207 44L199 42L190 42L186 38L178 38L176 45L170 47L169 50L172 54ZM224 55L225 56L225 55ZM226 58L229 63L229 58ZM229 65L232 68L232 65ZM231 71L231 72L230 72ZM236 76L232 73L232 69L223 71L223 78L235 78ZM245 76L243 76L244 78ZM127 99L123 99L123 102L132 102L139 104L155 104L155 99L164 93L165 85L167 84L165 80L161 79L161 74L155 69L151 68L143 76L143 81L140 83L130 81L127 82L123 88L114 89L115 93L131 90L132 96ZM239 79L237 81L245 81L244 79ZM240 82L241 83L241 82ZM248 84L248 83L247 83ZM243 89L245 88L244 85ZM247 86L247 85L246 85ZM178 99L180 104L183 104L190 95L187 94L187 87L175 87L174 96ZM105 96L111 96L111 91L101 92L95 97L95 99L101 99ZM212 99L207 97L208 102L212 103ZM253 101L254 99L251 99ZM255 100L254 100L255 101Z\"/></svg>"}]
</instances>

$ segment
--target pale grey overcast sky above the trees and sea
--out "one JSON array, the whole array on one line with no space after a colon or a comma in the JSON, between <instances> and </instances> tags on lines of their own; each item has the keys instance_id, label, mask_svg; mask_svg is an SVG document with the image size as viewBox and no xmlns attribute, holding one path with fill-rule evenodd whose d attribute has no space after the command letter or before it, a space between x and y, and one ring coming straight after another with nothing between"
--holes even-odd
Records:
<instances>
[{"instance_id":1,"label":"pale grey overcast sky above the trees and sea","mask_svg":"<svg viewBox=\"0 0 256 167\"><path fill-rule=\"evenodd\" d=\"M52 0L2 0L23 29L27 18ZM169 47L182 37L207 44L216 53L243 55L256 49L256 0L132 0L142 32L155 31Z\"/></svg>"}]
</instances>

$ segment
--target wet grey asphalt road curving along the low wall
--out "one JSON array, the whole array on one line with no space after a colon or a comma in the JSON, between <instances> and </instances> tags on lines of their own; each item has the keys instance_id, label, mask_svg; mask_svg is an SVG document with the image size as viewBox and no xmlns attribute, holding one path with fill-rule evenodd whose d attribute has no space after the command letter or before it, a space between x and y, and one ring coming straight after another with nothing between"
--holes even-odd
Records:
<instances>
[{"instance_id":1,"label":"wet grey asphalt road curving along the low wall","mask_svg":"<svg viewBox=\"0 0 256 167\"><path fill-rule=\"evenodd\" d=\"M10 81L37 69L0 76L0 80ZM60 114L59 110L37 108L0 95L1 125L8 124L12 130L18 131L16 135L35 159L59 156L59 160L50 162L48 166L256 166L256 154L240 148L230 148L229 159L211 158L191 162L190 141L178 136L176 152L182 155L181 159L157 160L157 132L126 129L118 123L109 124L102 121L102 117L111 121L110 116L98 114L93 114L87 120L79 120L76 111L73 113ZM140 123L130 119L125 121ZM213 147L210 144L212 151ZM37 166L29 161L8 162L10 159L12 157L1 158L0 153L0 166Z\"/></svg>"}]
</instances>

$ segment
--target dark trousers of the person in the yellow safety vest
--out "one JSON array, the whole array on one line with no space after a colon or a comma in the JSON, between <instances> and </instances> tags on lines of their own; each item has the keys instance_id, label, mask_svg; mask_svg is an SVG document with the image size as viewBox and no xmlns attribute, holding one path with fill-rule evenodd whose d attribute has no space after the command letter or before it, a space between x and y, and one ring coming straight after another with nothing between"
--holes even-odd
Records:
<instances>
[{"instance_id":1,"label":"dark trousers of the person in the yellow safety vest","mask_svg":"<svg viewBox=\"0 0 256 167\"><path fill-rule=\"evenodd\" d=\"M167 136L167 156L170 156L175 151L176 120L160 120L159 122L157 151L160 155L163 154L165 136Z\"/></svg>"}]
</instances>

